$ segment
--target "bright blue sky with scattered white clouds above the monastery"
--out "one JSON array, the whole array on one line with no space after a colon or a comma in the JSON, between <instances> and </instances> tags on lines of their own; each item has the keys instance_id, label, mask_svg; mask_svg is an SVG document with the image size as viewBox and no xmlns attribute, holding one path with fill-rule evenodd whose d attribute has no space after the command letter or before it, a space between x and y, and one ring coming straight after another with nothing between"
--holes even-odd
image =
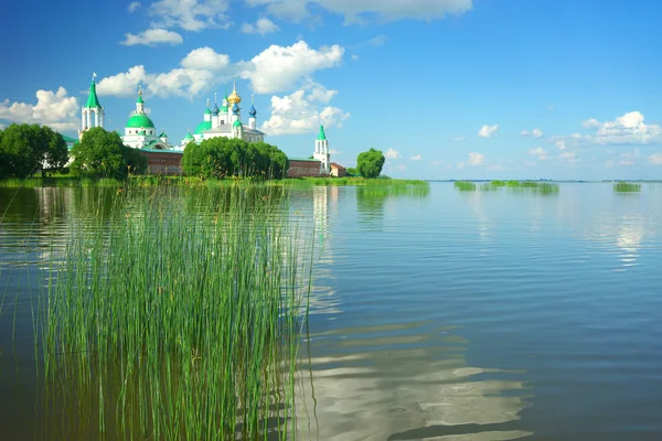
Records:
<instances>
[{"instance_id":1,"label":"bright blue sky with scattered white clouds above the monastery","mask_svg":"<svg viewBox=\"0 0 662 441\"><path fill-rule=\"evenodd\" d=\"M138 85L181 143L206 100L254 96L265 141L370 148L418 179L662 179L662 1L158 0L0 6L0 129L106 129ZM247 122L247 111L243 119Z\"/></svg>"}]
</instances>

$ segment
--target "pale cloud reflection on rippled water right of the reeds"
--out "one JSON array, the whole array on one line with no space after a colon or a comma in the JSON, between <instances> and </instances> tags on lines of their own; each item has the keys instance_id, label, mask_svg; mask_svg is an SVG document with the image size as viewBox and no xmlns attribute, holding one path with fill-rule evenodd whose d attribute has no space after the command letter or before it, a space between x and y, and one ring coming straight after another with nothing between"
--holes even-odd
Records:
<instances>
[{"instance_id":1,"label":"pale cloud reflection on rippled water right of the reeds","mask_svg":"<svg viewBox=\"0 0 662 441\"><path fill-rule=\"evenodd\" d=\"M407 333L388 341L380 333L360 345L378 351L346 354L355 348L355 336L374 332L363 331L355 330L333 347L312 337L313 353L319 347L344 354L313 357L311 370L300 372L302 439L478 441L531 434L517 427L531 390L515 374L466 366L461 338L431 341ZM346 332L332 334L342 337ZM412 347L426 338L428 346Z\"/></svg>"}]
</instances>

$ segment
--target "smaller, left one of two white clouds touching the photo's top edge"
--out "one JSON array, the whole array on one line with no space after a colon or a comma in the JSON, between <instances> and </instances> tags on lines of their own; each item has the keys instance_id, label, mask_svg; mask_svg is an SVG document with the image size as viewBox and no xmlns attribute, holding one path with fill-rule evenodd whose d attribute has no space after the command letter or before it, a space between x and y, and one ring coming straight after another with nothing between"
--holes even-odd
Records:
<instances>
[{"instance_id":1,"label":"smaller, left one of two white clouds touching the photo's top edge","mask_svg":"<svg viewBox=\"0 0 662 441\"><path fill-rule=\"evenodd\" d=\"M159 28L179 26L186 31L227 28L225 14L232 0L160 0L151 4L150 17Z\"/></svg>"}]
</instances>

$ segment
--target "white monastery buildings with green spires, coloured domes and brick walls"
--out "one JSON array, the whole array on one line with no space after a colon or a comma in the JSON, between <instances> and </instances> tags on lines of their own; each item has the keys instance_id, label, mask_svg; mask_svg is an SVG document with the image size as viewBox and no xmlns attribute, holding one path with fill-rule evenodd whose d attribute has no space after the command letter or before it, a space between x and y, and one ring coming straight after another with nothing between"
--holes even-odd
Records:
<instances>
[{"instance_id":1,"label":"white monastery buildings with green spires, coloured domes and brick walls","mask_svg":"<svg viewBox=\"0 0 662 441\"><path fill-rule=\"evenodd\" d=\"M89 95L87 103L81 111L81 129L78 130L78 140L83 139L85 131L93 127L105 128L105 109L100 105L96 94L96 83L93 75L89 84ZM253 99L252 99L253 101ZM147 112L145 111L145 99L142 89L138 87L138 98L136 99L136 110L129 117L124 135L118 131L125 146L132 149L140 149L140 152L147 158L149 174L182 174L181 160L184 148L190 142L202 142L206 139L224 137L233 139L243 139L247 142L264 142L265 133L257 129L257 110L255 104L250 104L248 110L248 125L242 122L242 108L239 107L242 97L237 93L236 79L233 84L233 90L229 96L223 98L221 107L216 103L214 94L214 107L207 106L204 110L202 121L190 131L179 144L169 142L166 130L157 135L157 129ZM331 162L329 152L329 140L324 133L324 127L320 125L318 137L314 141L314 153L312 159L290 158L288 178L302 176L344 176L346 170Z\"/></svg>"}]
</instances>

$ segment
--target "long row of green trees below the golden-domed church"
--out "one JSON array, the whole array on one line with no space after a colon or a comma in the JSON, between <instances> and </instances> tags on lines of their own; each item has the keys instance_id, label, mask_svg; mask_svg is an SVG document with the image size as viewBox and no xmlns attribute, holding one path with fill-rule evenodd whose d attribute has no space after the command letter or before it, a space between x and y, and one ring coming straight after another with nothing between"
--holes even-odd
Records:
<instances>
[{"instance_id":1,"label":"long row of green trees below the golden-domed church","mask_svg":"<svg viewBox=\"0 0 662 441\"><path fill-rule=\"evenodd\" d=\"M185 174L204 179L282 179L288 161L276 146L218 137L186 144L182 168Z\"/></svg>"}]
</instances>

